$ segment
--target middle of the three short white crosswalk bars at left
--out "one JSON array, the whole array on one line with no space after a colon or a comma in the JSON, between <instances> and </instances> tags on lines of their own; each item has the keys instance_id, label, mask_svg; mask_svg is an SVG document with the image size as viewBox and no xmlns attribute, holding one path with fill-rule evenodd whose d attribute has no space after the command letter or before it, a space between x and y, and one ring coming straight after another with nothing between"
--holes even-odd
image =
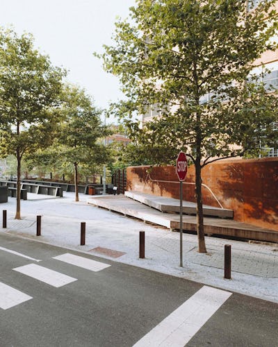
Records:
<instances>
[{"instance_id":1,"label":"middle of the three short white crosswalk bars at left","mask_svg":"<svg viewBox=\"0 0 278 347\"><path fill-rule=\"evenodd\" d=\"M56 288L63 287L63 285L67 285L68 283L77 280L76 278L64 275L63 273L54 270L47 269L46 267L37 264L19 266L13 270L23 273L26 276L35 278L36 280L40 280Z\"/></svg>"}]
</instances>

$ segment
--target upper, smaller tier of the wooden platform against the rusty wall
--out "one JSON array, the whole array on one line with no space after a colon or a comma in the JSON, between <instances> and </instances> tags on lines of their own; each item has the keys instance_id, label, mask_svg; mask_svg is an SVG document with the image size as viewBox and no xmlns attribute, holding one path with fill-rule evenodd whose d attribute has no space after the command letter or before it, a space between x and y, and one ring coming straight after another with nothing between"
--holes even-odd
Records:
<instances>
[{"instance_id":1,"label":"upper, smaller tier of the wooden platform against the rusty wall","mask_svg":"<svg viewBox=\"0 0 278 347\"><path fill-rule=\"evenodd\" d=\"M124 195L133 200L144 203L145 205L155 208L161 212L179 213L180 203L177 198L167 198L165 196L155 196L152 194L144 194L140 192L124 192ZM225 208L215 208L213 206L203 205L204 216L220 217L233 219L234 211ZM196 203L183 201L183 214L196 214Z\"/></svg>"}]
</instances>

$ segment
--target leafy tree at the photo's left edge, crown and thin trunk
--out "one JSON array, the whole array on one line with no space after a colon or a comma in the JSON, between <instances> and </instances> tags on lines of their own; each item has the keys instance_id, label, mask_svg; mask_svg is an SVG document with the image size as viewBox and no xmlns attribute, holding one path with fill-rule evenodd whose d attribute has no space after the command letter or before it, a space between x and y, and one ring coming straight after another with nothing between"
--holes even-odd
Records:
<instances>
[{"instance_id":1,"label":"leafy tree at the photo's left edge, crown and thin trunk","mask_svg":"<svg viewBox=\"0 0 278 347\"><path fill-rule=\"evenodd\" d=\"M0 151L17 158L15 219L21 217L22 157L51 143L64 75L34 48L32 35L0 29Z\"/></svg>"}]
</instances>

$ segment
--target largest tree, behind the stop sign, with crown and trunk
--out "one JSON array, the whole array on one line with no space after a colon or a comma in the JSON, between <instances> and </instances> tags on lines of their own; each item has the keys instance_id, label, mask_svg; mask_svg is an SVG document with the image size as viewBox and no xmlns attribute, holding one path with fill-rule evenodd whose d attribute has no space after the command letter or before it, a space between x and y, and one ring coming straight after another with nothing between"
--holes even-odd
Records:
<instances>
[{"instance_id":1,"label":"largest tree, behind the stop sign, with crown and trunk","mask_svg":"<svg viewBox=\"0 0 278 347\"><path fill-rule=\"evenodd\" d=\"M277 97L252 76L256 59L277 47L268 41L277 30L274 2L248 11L245 0L140 0L130 23L117 22L115 45L101 56L105 69L120 76L126 101L114 110L141 153L149 157L167 147L170 161L183 150L195 164L201 253L202 168L277 139L270 125ZM131 120L150 109L158 117L142 127Z\"/></svg>"}]
</instances>

